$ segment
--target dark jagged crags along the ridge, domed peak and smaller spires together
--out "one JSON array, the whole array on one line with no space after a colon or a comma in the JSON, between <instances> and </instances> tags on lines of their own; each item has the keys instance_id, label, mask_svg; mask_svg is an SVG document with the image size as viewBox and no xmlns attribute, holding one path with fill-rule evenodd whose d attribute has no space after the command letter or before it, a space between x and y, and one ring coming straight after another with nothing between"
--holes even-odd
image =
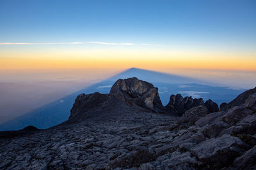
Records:
<instances>
[{"instance_id":1,"label":"dark jagged crags along the ridge, domed peak and smaller spires together","mask_svg":"<svg viewBox=\"0 0 256 170\"><path fill-rule=\"evenodd\" d=\"M81 94L77 96L72 110L70 121L81 121L105 110L116 110L128 106L129 108L145 108L156 113L182 116L186 111L196 106L204 106L207 113L219 111L218 104L209 99L204 103L202 98L183 98L180 94L170 96L169 103L164 107L161 103L158 89L147 81L138 78L119 79L112 86L109 94Z\"/></svg>"}]
</instances>

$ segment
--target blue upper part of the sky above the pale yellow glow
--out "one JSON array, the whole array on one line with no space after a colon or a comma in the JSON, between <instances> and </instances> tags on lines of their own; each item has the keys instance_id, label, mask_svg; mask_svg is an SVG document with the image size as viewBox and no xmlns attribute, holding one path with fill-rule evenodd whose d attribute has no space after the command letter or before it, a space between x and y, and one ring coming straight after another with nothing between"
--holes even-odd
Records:
<instances>
[{"instance_id":1,"label":"blue upper part of the sky above the pale yellow glow","mask_svg":"<svg viewBox=\"0 0 256 170\"><path fill-rule=\"evenodd\" d=\"M1 42L255 46L256 1L1 1Z\"/></svg>"}]
</instances>

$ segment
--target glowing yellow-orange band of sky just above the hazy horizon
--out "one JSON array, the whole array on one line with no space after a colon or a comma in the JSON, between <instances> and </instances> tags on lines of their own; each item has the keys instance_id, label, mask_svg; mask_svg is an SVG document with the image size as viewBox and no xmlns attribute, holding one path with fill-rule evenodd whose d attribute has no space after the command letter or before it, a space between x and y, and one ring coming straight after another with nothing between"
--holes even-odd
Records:
<instances>
[{"instance_id":1,"label":"glowing yellow-orange band of sky just above the hazy horizon","mask_svg":"<svg viewBox=\"0 0 256 170\"><path fill-rule=\"evenodd\" d=\"M140 67L168 71L171 68L256 71L255 53L205 52L157 48L99 50L13 50L0 53L0 69L122 69Z\"/></svg>"}]
</instances>

